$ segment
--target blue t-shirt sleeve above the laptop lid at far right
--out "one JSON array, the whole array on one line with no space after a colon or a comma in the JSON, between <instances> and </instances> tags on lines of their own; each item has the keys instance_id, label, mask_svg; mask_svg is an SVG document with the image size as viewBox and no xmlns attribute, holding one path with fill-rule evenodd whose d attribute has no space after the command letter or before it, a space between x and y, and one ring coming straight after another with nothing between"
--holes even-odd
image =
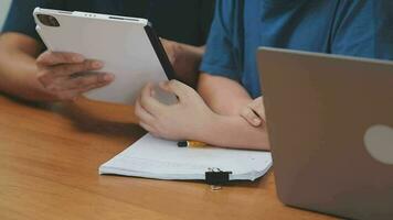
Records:
<instances>
[{"instance_id":1,"label":"blue t-shirt sleeve above the laptop lid at far right","mask_svg":"<svg viewBox=\"0 0 393 220\"><path fill-rule=\"evenodd\" d=\"M393 59L393 1L342 1L331 53Z\"/></svg>"}]
</instances>

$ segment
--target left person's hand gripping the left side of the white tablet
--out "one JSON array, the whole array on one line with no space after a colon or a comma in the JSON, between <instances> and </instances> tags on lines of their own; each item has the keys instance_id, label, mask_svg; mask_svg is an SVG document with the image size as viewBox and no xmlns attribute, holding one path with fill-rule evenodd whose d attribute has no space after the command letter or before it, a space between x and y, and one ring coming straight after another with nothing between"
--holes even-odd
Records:
<instances>
[{"instance_id":1,"label":"left person's hand gripping the left side of the white tablet","mask_svg":"<svg viewBox=\"0 0 393 220\"><path fill-rule=\"evenodd\" d=\"M114 80L111 74L88 74L102 69L104 64L74 53L44 52L36 58L36 66L39 81L60 101L74 100Z\"/></svg>"}]
</instances>

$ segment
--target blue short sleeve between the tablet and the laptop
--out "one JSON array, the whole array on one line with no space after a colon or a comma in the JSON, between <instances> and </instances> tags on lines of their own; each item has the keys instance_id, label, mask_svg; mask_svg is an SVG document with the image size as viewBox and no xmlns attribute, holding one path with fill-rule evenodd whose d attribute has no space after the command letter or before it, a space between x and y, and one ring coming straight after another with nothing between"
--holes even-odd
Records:
<instances>
[{"instance_id":1,"label":"blue short sleeve between the tablet and the laptop","mask_svg":"<svg viewBox=\"0 0 393 220\"><path fill-rule=\"evenodd\" d=\"M240 80L241 54L238 32L241 24L238 0L217 0L215 14L202 59L201 72Z\"/></svg>"}]
</instances>

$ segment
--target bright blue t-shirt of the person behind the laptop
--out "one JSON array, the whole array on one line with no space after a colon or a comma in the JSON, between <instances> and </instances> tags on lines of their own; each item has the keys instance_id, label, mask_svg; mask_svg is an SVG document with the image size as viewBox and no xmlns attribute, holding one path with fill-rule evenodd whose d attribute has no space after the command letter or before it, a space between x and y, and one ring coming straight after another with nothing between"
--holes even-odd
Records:
<instances>
[{"instance_id":1,"label":"bright blue t-shirt of the person behind the laptop","mask_svg":"<svg viewBox=\"0 0 393 220\"><path fill-rule=\"evenodd\" d=\"M201 70L256 98L258 46L393 59L393 1L217 0Z\"/></svg>"}]
</instances>

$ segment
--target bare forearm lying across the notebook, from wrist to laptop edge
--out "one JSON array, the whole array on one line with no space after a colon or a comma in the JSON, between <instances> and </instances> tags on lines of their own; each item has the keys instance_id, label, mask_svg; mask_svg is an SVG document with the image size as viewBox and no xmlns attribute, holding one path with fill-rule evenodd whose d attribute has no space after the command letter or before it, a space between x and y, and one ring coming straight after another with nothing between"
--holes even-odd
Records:
<instances>
[{"instance_id":1,"label":"bare forearm lying across the notebook, from wrist to laptop edge","mask_svg":"<svg viewBox=\"0 0 393 220\"><path fill-rule=\"evenodd\" d=\"M194 140L221 147L269 150L266 127L251 127L241 117L216 116L194 135Z\"/></svg>"}]
</instances>

